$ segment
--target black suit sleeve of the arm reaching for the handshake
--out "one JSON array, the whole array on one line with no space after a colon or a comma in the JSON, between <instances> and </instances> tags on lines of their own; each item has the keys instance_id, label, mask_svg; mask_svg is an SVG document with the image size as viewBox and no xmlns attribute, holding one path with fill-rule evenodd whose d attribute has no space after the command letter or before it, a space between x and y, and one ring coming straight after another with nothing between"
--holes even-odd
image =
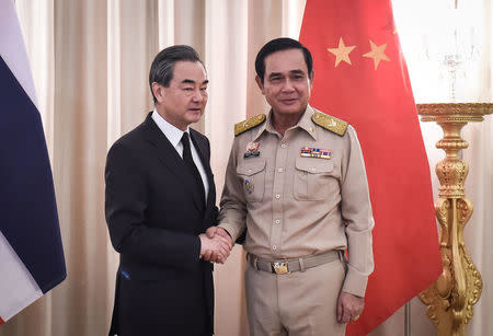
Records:
<instances>
[{"instance_id":1,"label":"black suit sleeve of the arm reaching for the handshake","mask_svg":"<svg viewBox=\"0 0 493 336\"><path fill-rule=\"evenodd\" d=\"M105 212L114 248L144 263L198 269L200 240L196 235L147 225L149 193L140 161L122 143L107 154Z\"/></svg>"}]
</instances>

